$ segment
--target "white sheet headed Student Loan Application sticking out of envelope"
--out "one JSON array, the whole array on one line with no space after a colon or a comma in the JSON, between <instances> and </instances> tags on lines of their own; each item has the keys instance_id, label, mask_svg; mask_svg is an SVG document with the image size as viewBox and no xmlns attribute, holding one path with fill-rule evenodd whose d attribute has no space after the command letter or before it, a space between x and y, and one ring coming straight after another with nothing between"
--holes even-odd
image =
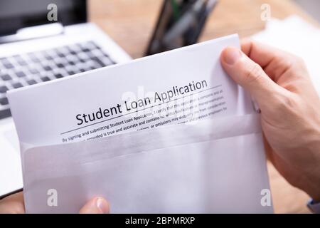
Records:
<instances>
[{"instance_id":1,"label":"white sheet headed Student Loan Application sticking out of envelope","mask_svg":"<svg viewBox=\"0 0 320 228\"><path fill-rule=\"evenodd\" d=\"M187 46L9 93L21 143L52 145L252 113L223 71L238 36Z\"/></svg>"}]
</instances>

